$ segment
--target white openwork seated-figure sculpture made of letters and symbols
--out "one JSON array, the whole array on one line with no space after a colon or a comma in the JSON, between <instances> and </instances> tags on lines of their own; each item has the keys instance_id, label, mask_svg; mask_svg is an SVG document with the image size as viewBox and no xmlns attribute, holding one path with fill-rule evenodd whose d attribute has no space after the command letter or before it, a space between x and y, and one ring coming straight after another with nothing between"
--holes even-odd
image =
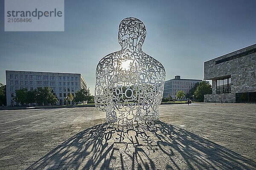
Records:
<instances>
[{"instance_id":1,"label":"white openwork seated-figure sculpture made of letters and symbols","mask_svg":"<svg viewBox=\"0 0 256 170\"><path fill-rule=\"evenodd\" d=\"M106 111L106 122L131 125L159 120L165 70L142 51L144 24L128 17L119 25L122 49L103 57L96 68L95 105Z\"/></svg>"}]
</instances>

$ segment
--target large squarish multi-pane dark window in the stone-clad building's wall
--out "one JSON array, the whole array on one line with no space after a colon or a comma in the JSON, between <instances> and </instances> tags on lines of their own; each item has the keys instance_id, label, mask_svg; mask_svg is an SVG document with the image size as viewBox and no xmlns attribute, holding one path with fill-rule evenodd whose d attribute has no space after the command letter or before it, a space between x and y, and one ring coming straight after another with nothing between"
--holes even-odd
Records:
<instances>
[{"instance_id":1,"label":"large squarish multi-pane dark window in the stone-clad building's wall","mask_svg":"<svg viewBox=\"0 0 256 170\"><path fill-rule=\"evenodd\" d=\"M216 80L216 93L231 93L231 77L224 77Z\"/></svg>"}]
</instances>

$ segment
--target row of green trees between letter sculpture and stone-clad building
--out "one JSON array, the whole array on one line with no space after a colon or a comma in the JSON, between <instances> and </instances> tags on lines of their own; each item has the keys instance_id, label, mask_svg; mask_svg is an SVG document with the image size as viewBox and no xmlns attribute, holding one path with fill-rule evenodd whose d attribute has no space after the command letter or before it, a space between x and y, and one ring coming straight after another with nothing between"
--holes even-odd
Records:
<instances>
[{"instance_id":1,"label":"row of green trees between letter sculpture and stone-clad building","mask_svg":"<svg viewBox=\"0 0 256 170\"><path fill-rule=\"evenodd\" d=\"M183 99L183 97L186 96L186 98L194 98L198 102L204 102L204 95L205 94L212 94L212 85L209 83L203 81L203 82L197 82L192 89L190 89L189 93L185 95L184 91L177 91L176 98L180 99L180 101ZM193 97L194 96L194 97ZM163 99L163 102L171 101L172 96L169 94L169 96L165 99Z\"/></svg>"}]
</instances>

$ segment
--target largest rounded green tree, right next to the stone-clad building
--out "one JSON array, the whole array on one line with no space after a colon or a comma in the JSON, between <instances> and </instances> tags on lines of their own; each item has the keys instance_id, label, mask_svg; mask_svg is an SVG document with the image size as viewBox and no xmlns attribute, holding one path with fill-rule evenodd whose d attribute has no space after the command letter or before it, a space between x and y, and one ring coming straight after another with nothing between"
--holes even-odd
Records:
<instances>
[{"instance_id":1,"label":"largest rounded green tree, right next to the stone-clad building","mask_svg":"<svg viewBox=\"0 0 256 170\"><path fill-rule=\"evenodd\" d=\"M197 86L194 96L199 102L204 102L204 95L212 94L212 85L207 82L200 82Z\"/></svg>"}]
</instances>

